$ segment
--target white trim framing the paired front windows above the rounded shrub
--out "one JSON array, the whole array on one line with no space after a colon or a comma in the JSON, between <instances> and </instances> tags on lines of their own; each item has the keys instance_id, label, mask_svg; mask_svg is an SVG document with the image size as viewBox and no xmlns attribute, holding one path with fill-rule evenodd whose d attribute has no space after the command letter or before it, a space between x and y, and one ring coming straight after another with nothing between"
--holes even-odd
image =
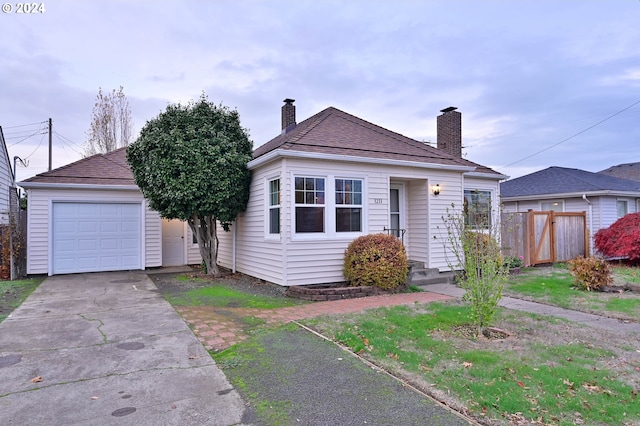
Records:
<instances>
[{"instance_id":1,"label":"white trim framing the paired front windows above the rounded shrub","mask_svg":"<svg viewBox=\"0 0 640 426\"><path fill-rule=\"evenodd\" d=\"M295 178L309 177L324 179L324 232L296 232L296 202L295 202ZM361 232L336 232L336 179L357 179L362 181L362 231ZM361 235L366 235L369 229L368 221L368 180L366 176L359 174L317 174L294 170L291 172L291 241L351 241ZM281 188L282 190L282 188Z\"/></svg>"}]
</instances>

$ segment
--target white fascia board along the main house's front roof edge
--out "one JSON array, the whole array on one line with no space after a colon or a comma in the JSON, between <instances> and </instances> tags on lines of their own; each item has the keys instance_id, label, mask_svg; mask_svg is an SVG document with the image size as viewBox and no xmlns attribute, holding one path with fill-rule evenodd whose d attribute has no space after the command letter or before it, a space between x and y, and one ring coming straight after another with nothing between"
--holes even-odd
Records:
<instances>
[{"instance_id":1,"label":"white fascia board along the main house's front roof edge","mask_svg":"<svg viewBox=\"0 0 640 426\"><path fill-rule=\"evenodd\" d=\"M275 160L278 157L306 158L310 160L327 160L327 161L349 161L349 162L355 162L355 163L379 164L379 165L386 165L386 166L418 167L421 169L452 170L452 171L459 171L459 172L470 172L476 169L475 167L470 167L470 166L452 166L447 164L390 160L386 158L356 157L352 155L321 154L317 152L289 151L284 149L276 149L267 154L261 155L260 157L249 161L249 163L247 164L247 167L250 170L253 170L263 164L266 164Z\"/></svg>"}]
</instances>

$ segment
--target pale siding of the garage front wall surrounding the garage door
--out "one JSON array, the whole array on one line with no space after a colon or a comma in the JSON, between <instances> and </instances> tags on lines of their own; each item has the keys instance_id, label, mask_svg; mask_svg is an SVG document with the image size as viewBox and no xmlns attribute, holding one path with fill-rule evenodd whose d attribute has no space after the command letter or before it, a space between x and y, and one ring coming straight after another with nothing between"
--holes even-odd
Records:
<instances>
[{"instance_id":1,"label":"pale siding of the garage front wall surrounding the garage door","mask_svg":"<svg viewBox=\"0 0 640 426\"><path fill-rule=\"evenodd\" d=\"M27 274L49 273L50 207L55 201L143 202L139 191L88 189L35 189L28 191ZM162 265L162 228L158 213L145 205L145 267Z\"/></svg>"}]
</instances>

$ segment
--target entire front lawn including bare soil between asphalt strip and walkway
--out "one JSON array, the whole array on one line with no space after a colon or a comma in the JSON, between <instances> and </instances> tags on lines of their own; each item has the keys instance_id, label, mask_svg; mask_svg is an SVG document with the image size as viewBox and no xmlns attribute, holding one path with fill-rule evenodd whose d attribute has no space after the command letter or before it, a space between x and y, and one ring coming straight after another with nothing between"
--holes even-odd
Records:
<instances>
[{"instance_id":1,"label":"entire front lawn including bare soil between asphalt strip and walkway","mask_svg":"<svg viewBox=\"0 0 640 426\"><path fill-rule=\"evenodd\" d=\"M640 424L640 346L627 336L500 309L510 337L470 338L468 316L452 302L303 322L481 421Z\"/></svg>"}]
</instances>

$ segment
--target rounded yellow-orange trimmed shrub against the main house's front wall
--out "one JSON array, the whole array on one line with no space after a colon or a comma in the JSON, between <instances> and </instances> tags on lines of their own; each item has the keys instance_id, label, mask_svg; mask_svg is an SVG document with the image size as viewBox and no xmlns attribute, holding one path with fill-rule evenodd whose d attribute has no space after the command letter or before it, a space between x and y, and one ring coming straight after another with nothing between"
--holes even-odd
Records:
<instances>
[{"instance_id":1,"label":"rounded yellow-orange trimmed shrub against the main house's front wall","mask_svg":"<svg viewBox=\"0 0 640 426\"><path fill-rule=\"evenodd\" d=\"M406 284L409 262L402 242L393 235L363 235L345 251L342 272L352 286L391 290Z\"/></svg>"}]
</instances>

